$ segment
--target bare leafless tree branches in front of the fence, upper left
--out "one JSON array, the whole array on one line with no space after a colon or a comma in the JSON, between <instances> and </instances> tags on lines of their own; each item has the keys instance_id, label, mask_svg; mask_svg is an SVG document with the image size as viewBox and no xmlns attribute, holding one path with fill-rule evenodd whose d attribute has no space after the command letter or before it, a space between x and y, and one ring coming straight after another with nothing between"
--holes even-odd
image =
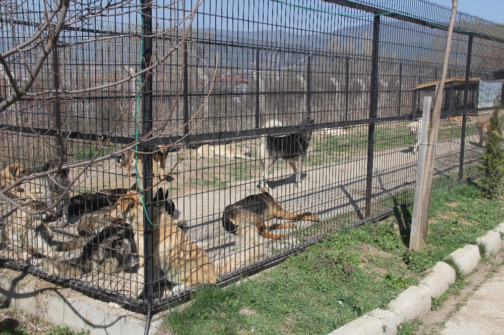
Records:
<instances>
[{"instance_id":1,"label":"bare leafless tree branches in front of the fence, upper left","mask_svg":"<svg viewBox=\"0 0 504 335\"><path fill-rule=\"evenodd\" d=\"M193 8L185 8L184 0L173 0L160 6L155 3L141 5L133 0L41 0L35 6L34 3L33 0L2 0L0 10L0 36L6 41L0 46L0 86L4 86L0 92L1 123L24 128L25 133L28 132L29 135L21 137L29 136L34 142L43 143L44 147L48 148L45 150L48 152L44 151L44 159L57 161L54 169L27 174L0 192L1 200L32 214L35 212L22 205L24 199L13 200L7 197L6 193L61 169L79 167L79 173L72 177L70 187L65 191L71 192L76 181L93 164L136 149L147 139L179 134L184 124L171 121L179 108L177 101L182 90L180 72L183 69L183 60L180 54L192 32L201 1L191 3ZM163 18L158 21L161 23L167 22L165 16L169 16L169 26L159 27L158 24L152 34L144 35L141 26L134 23L139 20L143 6L152 8L151 19L155 24L158 16ZM97 22L102 23L99 33L96 33ZM155 41L152 58L150 63L141 69L139 45L147 38ZM110 52L111 46L117 48L121 45L127 46L125 50L138 57L135 65L132 65L134 62L130 60L129 64L114 64L115 68L111 69L104 64L86 64L85 55L80 56L80 65L77 64L79 62L69 61L77 57L77 51L101 51L106 54L107 51ZM132 124L133 128L141 129L141 119L131 121L132 116L138 116L137 104L145 86L145 80L142 81L141 78L165 73L169 64L180 65L176 66L176 71L171 72L169 80L164 78L170 82L169 90L175 92L172 103L169 106L158 104L157 108L164 110L161 113L153 113L157 119L149 133L141 134L140 130L137 139L128 144L112 143L113 136L124 133L131 135ZM207 72L210 94L216 71L208 68ZM154 85L163 85L156 79L153 82ZM107 98L111 92L115 94L115 98L121 99ZM92 108L92 104L83 99L84 97L91 97L95 101L102 99L100 108ZM208 95L201 106L193 109L188 123L195 120L201 122L200 114L205 114L207 100ZM105 114L104 110L108 114ZM75 113L85 115L83 119L101 118L106 125L90 130L105 135L98 140L87 141L87 145L79 148L77 152L70 152L70 132L82 131L76 128L77 124L73 121ZM9 118L9 115L16 115L15 120ZM129 123L126 122L128 120ZM41 133L36 130L40 129L41 124L45 127L49 125L47 129L51 130L50 136L49 131ZM128 124L130 126L127 126ZM91 146L96 148L92 155L86 159L75 159L76 155Z\"/></svg>"}]
</instances>

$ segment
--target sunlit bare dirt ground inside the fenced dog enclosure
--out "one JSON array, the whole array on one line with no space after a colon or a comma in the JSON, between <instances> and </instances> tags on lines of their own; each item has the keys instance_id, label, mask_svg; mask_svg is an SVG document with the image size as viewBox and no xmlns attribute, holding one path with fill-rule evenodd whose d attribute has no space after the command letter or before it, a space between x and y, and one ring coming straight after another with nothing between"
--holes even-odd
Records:
<instances>
[{"instance_id":1,"label":"sunlit bare dirt ground inside the fenced dog enclosure","mask_svg":"<svg viewBox=\"0 0 504 335\"><path fill-rule=\"evenodd\" d=\"M478 135L466 138L466 152L469 158L475 157L481 152L477 138ZM252 144L244 142L242 145L249 148ZM438 144L437 176L456 175L459 149L460 139L448 139ZM283 241L267 241L264 246L266 256L295 247L303 241L339 228L342 221L334 218L349 215L347 220L351 223L362 216L367 165L365 156L346 157L342 155L339 162L309 165L306 162L312 161L310 154L308 153L305 160L305 175L302 177L299 188L294 187L292 170L285 163L278 164L274 172L270 173L268 185L272 188L270 194L280 201L286 210L315 212L321 217L323 223L299 222L296 229L276 230L275 232L288 234L288 236ZM228 262L235 253L236 240L234 235L222 227L222 212L225 206L247 195L259 192L259 170L252 166L253 164L257 165L258 162L254 158L245 161L245 176L243 176L242 167L239 169L237 167L238 164L243 163L240 159L229 160L223 157L188 159L186 153L174 152L167 158L166 171L170 171L177 164L181 155L185 156L185 159L181 160L174 168L173 177L167 178L159 186L170 190L171 197L181 212L181 217L187 221L185 232L191 239L208 245L206 247L207 253L214 261ZM411 147L375 152L371 215L393 206L390 199L398 192L413 188L416 179L417 159L418 154L412 154ZM239 174L232 175L230 171L239 172ZM81 172L79 169L74 169L71 171L71 175L77 176ZM205 184L205 181L213 182ZM100 162L84 172L75 187L80 191L96 191L129 188L134 183L135 179L128 177L128 172L124 167L115 160L108 160ZM34 194L40 192L37 186L30 186L30 189ZM4 208L3 213L5 214ZM8 215L4 216L4 219L6 218L8 219ZM56 222L51 227L54 240L59 242L76 238L78 236L76 229L78 219L78 217L74 217L69 220L70 222ZM6 252L8 250L2 250L2 253ZM58 257L65 260L75 257L74 254L69 253L59 254ZM13 258L11 253L4 255L4 257ZM82 280L125 295L132 294L128 283L143 282L143 279L137 275L135 268L132 272L111 275L91 273Z\"/></svg>"}]
</instances>

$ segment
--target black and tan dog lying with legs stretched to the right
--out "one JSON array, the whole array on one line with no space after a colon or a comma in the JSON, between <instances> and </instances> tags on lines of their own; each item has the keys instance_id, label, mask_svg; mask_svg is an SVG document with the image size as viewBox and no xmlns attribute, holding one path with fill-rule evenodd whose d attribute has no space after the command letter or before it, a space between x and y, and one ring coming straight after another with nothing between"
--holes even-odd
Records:
<instances>
[{"instance_id":1,"label":"black and tan dog lying with legs stretched to the right","mask_svg":"<svg viewBox=\"0 0 504 335\"><path fill-rule=\"evenodd\" d=\"M266 222L273 218L297 221L320 221L319 217L313 213L293 213L286 211L268 192L262 192L226 206L222 217L222 226L235 235L239 235L242 229L254 226L257 233L261 236L272 239L281 239L285 235L274 234L268 231L268 228L296 228L294 222L274 223L271 226L267 226Z\"/></svg>"}]
</instances>

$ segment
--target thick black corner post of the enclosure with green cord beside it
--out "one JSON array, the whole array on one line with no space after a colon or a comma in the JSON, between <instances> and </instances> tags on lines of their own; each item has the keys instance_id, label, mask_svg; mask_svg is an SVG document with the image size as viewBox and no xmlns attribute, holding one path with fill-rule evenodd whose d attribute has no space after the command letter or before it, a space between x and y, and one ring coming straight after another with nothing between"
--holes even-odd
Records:
<instances>
[{"instance_id":1,"label":"thick black corner post of the enclosure with green cord beside it","mask_svg":"<svg viewBox=\"0 0 504 335\"><path fill-rule=\"evenodd\" d=\"M152 7L149 0L142 0L142 63L141 69L144 70L151 64L152 56ZM152 74L150 71L144 72L142 74L142 82L144 86L142 87L141 97L142 97L142 135L144 137L150 133L152 129ZM151 136L148 136L151 137ZM144 213L144 252L145 252L145 271L144 271L144 300L147 300L145 305L145 311L147 313L147 323L150 322L151 312L152 312L152 300L153 300L153 226L150 222L153 217L152 210L152 158L149 142L146 138L142 142L143 153L143 190L145 192L142 195L143 202L145 203L145 213ZM139 166L140 167L140 166ZM140 185L139 185L140 187ZM142 243L142 241L139 241ZM148 326L146 327L148 331Z\"/></svg>"}]
</instances>

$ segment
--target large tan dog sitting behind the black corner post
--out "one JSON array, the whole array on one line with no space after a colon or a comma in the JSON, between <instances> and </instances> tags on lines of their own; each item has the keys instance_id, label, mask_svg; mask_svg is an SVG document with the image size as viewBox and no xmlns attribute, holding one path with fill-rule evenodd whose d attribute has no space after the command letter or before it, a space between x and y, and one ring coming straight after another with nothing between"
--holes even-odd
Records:
<instances>
[{"instance_id":1,"label":"large tan dog sitting behind the black corner post","mask_svg":"<svg viewBox=\"0 0 504 335\"><path fill-rule=\"evenodd\" d=\"M162 190L162 189L161 189ZM162 191L158 194L163 194ZM119 198L110 213L110 219L117 224L123 220L130 222L138 235L139 269L144 273L144 211L139 194L130 192ZM219 278L215 274L214 262L205 250L192 241L178 227L178 221L167 214L163 208L153 206L150 218L154 225L154 278L162 271L173 285L173 290L197 284L215 284ZM139 290L139 295L142 291Z\"/></svg>"}]
</instances>

